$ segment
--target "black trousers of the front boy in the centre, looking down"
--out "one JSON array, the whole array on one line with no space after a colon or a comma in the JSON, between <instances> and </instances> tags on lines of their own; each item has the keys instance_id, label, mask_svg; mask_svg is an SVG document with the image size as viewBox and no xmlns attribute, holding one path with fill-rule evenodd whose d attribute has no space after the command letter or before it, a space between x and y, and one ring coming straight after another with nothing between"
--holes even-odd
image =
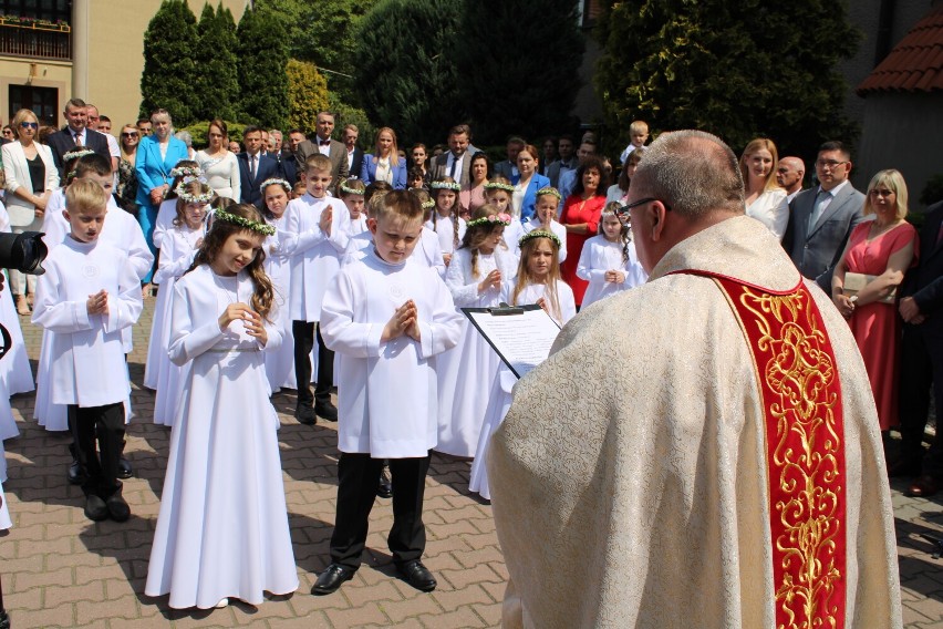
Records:
<instances>
[{"instance_id":1,"label":"black trousers of the front boy in the centre, looking down","mask_svg":"<svg viewBox=\"0 0 943 629\"><path fill-rule=\"evenodd\" d=\"M371 458L369 454L341 454L338 462L338 515L331 535L331 561L334 564L354 569L360 567L381 467L382 458ZM426 548L423 496L428 470L428 455L390 458L393 527L386 543L395 564L418 559Z\"/></svg>"}]
</instances>

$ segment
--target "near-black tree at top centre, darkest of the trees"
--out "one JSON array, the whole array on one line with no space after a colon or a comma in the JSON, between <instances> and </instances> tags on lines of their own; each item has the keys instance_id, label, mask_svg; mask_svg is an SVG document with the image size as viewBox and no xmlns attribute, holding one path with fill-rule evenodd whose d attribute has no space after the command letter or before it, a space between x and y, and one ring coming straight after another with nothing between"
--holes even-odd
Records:
<instances>
[{"instance_id":1,"label":"near-black tree at top centre, darkest of the trees","mask_svg":"<svg viewBox=\"0 0 943 629\"><path fill-rule=\"evenodd\" d=\"M576 0L465 6L462 45L452 50L475 143L559 133L580 87Z\"/></svg>"}]
</instances>

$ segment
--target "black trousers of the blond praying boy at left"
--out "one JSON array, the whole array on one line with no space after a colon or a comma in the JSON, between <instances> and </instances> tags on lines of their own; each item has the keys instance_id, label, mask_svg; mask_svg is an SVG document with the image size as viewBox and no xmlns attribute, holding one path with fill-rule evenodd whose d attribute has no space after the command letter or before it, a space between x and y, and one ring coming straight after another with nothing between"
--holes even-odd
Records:
<instances>
[{"instance_id":1,"label":"black trousers of the blond praying boy at left","mask_svg":"<svg viewBox=\"0 0 943 629\"><path fill-rule=\"evenodd\" d=\"M96 494L107 499L121 489L117 470L124 445L124 404L69 404L66 416L76 458L85 471L82 491L86 496Z\"/></svg>"}]
</instances>

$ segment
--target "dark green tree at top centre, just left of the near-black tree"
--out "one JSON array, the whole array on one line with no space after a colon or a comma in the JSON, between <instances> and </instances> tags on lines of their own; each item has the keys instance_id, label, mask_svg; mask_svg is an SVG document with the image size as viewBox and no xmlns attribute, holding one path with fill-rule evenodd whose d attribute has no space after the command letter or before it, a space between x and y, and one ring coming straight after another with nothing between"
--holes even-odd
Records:
<instances>
[{"instance_id":1,"label":"dark green tree at top centre, just left of the near-black tree","mask_svg":"<svg viewBox=\"0 0 943 629\"><path fill-rule=\"evenodd\" d=\"M400 144L442 138L463 121L454 0L381 0L360 23L353 64L363 109ZM501 112L502 114L504 112Z\"/></svg>"}]
</instances>

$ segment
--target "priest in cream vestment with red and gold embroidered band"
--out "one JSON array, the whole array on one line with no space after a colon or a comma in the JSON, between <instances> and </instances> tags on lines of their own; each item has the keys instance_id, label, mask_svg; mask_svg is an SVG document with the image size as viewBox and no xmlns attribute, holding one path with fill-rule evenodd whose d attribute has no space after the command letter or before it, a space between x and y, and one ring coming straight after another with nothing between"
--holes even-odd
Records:
<instances>
[{"instance_id":1,"label":"priest in cream vestment with red and gold embroidered band","mask_svg":"<svg viewBox=\"0 0 943 629\"><path fill-rule=\"evenodd\" d=\"M491 442L504 626L901 627L847 323L718 138L662 134L628 200L649 283L563 328Z\"/></svg>"}]
</instances>

